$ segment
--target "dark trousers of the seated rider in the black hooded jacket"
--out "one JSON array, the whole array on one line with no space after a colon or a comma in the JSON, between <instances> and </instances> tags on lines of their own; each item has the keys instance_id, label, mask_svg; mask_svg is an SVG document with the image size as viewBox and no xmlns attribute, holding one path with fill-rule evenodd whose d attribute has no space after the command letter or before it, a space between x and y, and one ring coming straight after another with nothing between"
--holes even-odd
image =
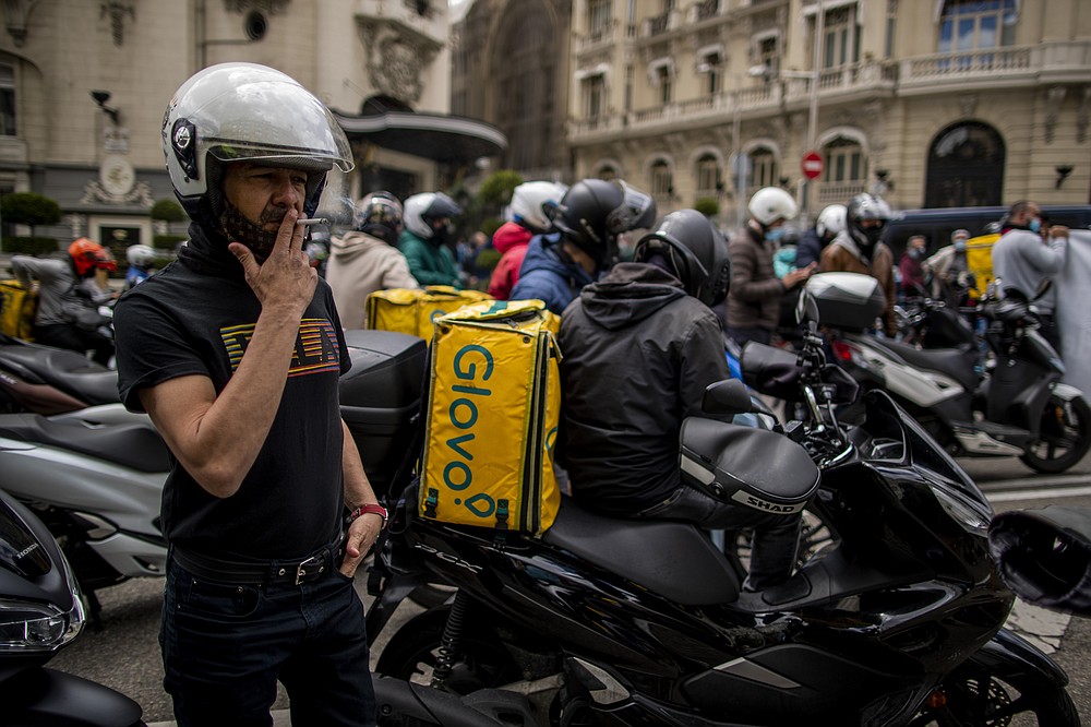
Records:
<instances>
[{"instance_id":1,"label":"dark trousers of the seated rider in the black hooded jacket","mask_svg":"<svg viewBox=\"0 0 1091 727\"><path fill-rule=\"evenodd\" d=\"M795 568L803 519L799 513L776 515L742 504L714 500L687 485L669 498L635 515L645 520L680 520L706 529L754 528L750 573L743 587L763 591L783 583Z\"/></svg>"}]
</instances>

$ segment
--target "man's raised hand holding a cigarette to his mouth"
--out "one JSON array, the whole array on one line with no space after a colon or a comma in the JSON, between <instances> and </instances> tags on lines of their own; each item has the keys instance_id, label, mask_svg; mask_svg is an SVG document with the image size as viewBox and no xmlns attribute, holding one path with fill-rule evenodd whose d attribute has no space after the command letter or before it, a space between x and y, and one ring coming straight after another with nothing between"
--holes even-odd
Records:
<instances>
[{"instance_id":1,"label":"man's raised hand holding a cigarette to his mouth","mask_svg":"<svg viewBox=\"0 0 1091 727\"><path fill-rule=\"evenodd\" d=\"M310 259L303 252L307 229L296 225L298 218L299 213L295 208L288 210L277 231L273 251L260 265L250 249L241 242L231 242L227 247L242 264L247 283L263 310L279 308L301 318L314 297L319 273L311 267Z\"/></svg>"}]
</instances>

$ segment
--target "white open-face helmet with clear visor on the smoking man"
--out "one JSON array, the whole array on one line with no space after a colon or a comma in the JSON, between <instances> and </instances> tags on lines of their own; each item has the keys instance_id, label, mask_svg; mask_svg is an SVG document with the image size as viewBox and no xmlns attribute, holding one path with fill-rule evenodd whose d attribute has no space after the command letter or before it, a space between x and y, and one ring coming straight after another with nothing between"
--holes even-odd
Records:
<instances>
[{"instance_id":1,"label":"white open-face helmet with clear visor on the smoking man","mask_svg":"<svg viewBox=\"0 0 1091 727\"><path fill-rule=\"evenodd\" d=\"M216 212L221 163L312 172L308 215L317 207L324 172L353 166L348 139L325 105L290 76L256 63L219 63L190 76L163 117L163 152L175 193L197 221ZM206 200L213 207L202 208Z\"/></svg>"}]
</instances>

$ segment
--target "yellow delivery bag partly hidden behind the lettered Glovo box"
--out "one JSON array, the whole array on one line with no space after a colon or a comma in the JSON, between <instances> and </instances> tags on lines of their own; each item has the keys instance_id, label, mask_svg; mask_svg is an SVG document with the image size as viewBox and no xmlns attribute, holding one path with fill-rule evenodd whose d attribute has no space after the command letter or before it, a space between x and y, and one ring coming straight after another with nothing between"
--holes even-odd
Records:
<instances>
[{"instance_id":1,"label":"yellow delivery bag partly hidden behind the lettered Glovo box","mask_svg":"<svg viewBox=\"0 0 1091 727\"><path fill-rule=\"evenodd\" d=\"M368 296L365 320L373 331L395 331L428 339L432 337L434 319L479 300L492 300L492 296L480 290L457 290L449 285L388 288Z\"/></svg>"}]
</instances>

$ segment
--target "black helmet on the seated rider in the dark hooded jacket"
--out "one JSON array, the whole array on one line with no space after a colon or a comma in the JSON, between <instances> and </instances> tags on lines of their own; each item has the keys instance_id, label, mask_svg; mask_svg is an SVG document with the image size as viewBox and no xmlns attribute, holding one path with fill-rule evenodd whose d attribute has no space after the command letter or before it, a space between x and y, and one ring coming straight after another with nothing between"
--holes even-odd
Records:
<instances>
[{"instance_id":1,"label":"black helmet on the seated rider in the dark hooded jacket","mask_svg":"<svg viewBox=\"0 0 1091 727\"><path fill-rule=\"evenodd\" d=\"M654 233L636 243L634 260L663 255L687 295L709 308L723 302L731 285L731 258L720 230L696 210L679 210L663 217Z\"/></svg>"}]
</instances>

